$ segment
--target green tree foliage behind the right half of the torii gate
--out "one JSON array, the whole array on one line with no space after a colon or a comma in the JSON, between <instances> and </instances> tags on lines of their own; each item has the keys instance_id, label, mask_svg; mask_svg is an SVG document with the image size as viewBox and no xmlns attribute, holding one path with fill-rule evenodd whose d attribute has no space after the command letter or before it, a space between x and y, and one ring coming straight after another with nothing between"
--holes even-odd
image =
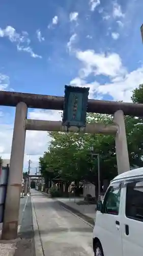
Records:
<instances>
[{"instance_id":1,"label":"green tree foliage behind the right half of the torii gate","mask_svg":"<svg viewBox=\"0 0 143 256\"><path fill-rule=\"evenodd\" d=\"M111 115L88 114L89 123L112 123ZM143 125L142 120L125 117L128 151L131 167L142 166ZM40 158L41 170L49 178L59 177L64 181L88 180L97 185L97 158L91 157L90 145L100 155L101 183L117 175L115 137L76 133L49 133L52 140L48 152Z\"/></svg>"}]
</instances>

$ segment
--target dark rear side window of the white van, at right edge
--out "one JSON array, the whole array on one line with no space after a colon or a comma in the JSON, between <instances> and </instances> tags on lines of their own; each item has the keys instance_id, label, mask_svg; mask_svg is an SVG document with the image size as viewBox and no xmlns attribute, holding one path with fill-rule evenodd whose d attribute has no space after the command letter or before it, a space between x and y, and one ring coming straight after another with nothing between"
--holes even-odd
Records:
<instances>
[{"instance_id":1,"label":"dark rear side window of the white van, at right edge","mask_svg":"<svg viewBox=\"0 0 143 256\"><path fill-rule=\"evenodd\" d=\"M143 180L127 184L126 217L143 221Z\"/></svg>"}]
</instances>

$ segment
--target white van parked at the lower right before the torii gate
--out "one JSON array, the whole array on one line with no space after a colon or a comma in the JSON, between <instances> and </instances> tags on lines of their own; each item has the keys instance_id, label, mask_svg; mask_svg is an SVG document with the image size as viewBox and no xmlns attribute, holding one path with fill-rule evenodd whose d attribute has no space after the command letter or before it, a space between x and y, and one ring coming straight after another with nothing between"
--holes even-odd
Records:
<instances>
[{"instance_id":1,"label":"white van parked at the lower right before the torii gate","mask_svg":"<svg viewBox=\"0 0 143 256\"><path fill-rule=\"evenodd\" d=\"M143 255L143 167L113 179L97 204L96 256Z\"/></svg>"}]
</instances>

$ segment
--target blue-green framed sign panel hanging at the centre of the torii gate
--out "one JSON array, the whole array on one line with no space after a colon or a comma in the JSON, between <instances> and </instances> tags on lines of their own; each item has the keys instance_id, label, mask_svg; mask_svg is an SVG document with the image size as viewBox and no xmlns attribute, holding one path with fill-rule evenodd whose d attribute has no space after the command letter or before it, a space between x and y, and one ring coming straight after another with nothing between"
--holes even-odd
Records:
<instances>
[{"instance_id":1,"label":"blue-green framed sign panel hanging at the centre of the torii gate","mask_svg":"<svg viewBox=\"0 0 143 256\"><path fill-rule=\"evenodd\" d=\"M63 125L82 127L86 125L89 88L65 86Z\"/></svg>"}]
</instances>

